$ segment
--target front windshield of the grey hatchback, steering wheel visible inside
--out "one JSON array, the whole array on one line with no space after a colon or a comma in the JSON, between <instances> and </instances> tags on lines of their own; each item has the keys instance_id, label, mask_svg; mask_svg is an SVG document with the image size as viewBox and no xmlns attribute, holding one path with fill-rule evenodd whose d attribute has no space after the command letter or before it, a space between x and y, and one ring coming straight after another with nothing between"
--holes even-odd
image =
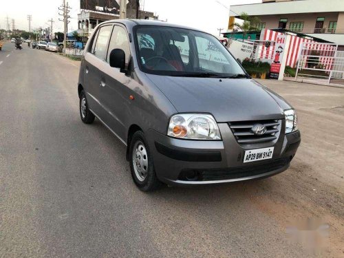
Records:
<instances>
[{"instance_id":1,"label":"front windshield of the grey hatchback, steering wheel visible inside","mask_svg":"<svg viewBox=\"0 0 344 258\"><path fill-rule=\"evenodd\" d=\"M244 78L235 58L214 36L195 30L142 25L135 29L140 69L166 76Z\"/></svg>"}]
</instances>

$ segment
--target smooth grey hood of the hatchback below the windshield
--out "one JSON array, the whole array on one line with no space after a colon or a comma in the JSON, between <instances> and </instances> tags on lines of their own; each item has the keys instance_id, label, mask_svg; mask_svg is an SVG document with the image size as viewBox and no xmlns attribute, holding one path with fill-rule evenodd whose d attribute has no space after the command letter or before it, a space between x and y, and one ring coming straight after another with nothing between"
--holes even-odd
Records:
<instances>
[{"instance_id":1,"label":"smooth grey hood of the hatchback below the windshield","mask_svg":"<svg viewBox=\"0 0 344 258\"><path fill-rule=\"evenodd\" d=\"M246 78L194 78L147 74L180 113L213 114L217 122L284 118L283 98Z\"/></svg>"}]
</instances>

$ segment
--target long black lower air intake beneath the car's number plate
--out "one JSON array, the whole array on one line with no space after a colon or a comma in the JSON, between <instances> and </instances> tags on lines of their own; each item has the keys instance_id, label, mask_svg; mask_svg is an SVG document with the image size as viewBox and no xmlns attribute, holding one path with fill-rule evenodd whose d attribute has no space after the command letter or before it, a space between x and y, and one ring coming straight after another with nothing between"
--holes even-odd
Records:
<instances>
[{"instance_id":1,"label":"long black lower air intake beneath the car's number plate","mask_svg":"<svg viewBox=\"0 0 344 258\"><path fill-rule=\"evenodd\" d=\"M179 179L189 181L212 181L246 178L281 169L283 166L286 166L288 162L288 158L281 158L264 162L263 164L252 164L249 166L239 166L228 169L185 169L180 173Z\"/></svg>"}]
</instances>

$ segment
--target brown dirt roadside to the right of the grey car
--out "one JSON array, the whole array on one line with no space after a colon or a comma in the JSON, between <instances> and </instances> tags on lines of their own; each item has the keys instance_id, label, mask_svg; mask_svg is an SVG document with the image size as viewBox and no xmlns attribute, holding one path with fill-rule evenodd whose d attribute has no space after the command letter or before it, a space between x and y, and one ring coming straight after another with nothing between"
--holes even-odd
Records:
<instances>
[{"instance_id":1,"label":"brown dirt roadside to the right of the grey car","mask_svg":"<svg viewBox=\"0 0 344 258\"><path fill-rule=\"evenodd\" d=\"M328 242L318 255L343 257L344 89L259 82L288 99L297 110L302 140L288 171L270 178L270 184L259 182L257 188L250 188L252 204L285 229L305 219L328 224Z\"/></svg>"}]
</instances>

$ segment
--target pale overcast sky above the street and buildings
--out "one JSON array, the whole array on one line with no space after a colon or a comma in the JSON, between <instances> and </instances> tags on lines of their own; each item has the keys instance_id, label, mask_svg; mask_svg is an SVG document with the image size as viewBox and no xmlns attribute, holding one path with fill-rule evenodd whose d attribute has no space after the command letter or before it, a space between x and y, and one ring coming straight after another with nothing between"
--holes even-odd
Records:
<instances>
[{"instance_id":1,"label":"pale overcast sky above the street and buildings","mask_svg":"<svg viewBox=\"0 0 344 258\"><path fill-rule=\"evenodd\" d=\"M77 29L80 0L66 0L72 10L69 31ZM63 0L1 0L0 29L6 29L6 17L14 19L16 28L28 30L28 14L32 15L32 28L47 28L53 19L53 31L63 32L63 22L58 21L58 7ZM261 3L261 0L141 0L144 10L154 12L160 20L188 25L218 35L217 28L228 26L228 8L237 4ZM12 28L12 27L11 27Z\"/></svg>"}]
</instances>

